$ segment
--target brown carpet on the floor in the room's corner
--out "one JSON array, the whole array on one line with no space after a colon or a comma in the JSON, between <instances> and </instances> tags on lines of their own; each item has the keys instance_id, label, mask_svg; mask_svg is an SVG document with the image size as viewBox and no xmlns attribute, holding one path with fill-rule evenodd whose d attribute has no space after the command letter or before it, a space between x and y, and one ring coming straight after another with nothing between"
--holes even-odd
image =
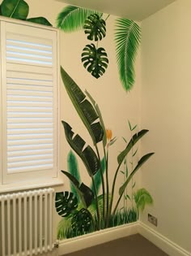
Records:
<instances>
[{"instance_id":1,"label":"brown carpet on the floor in the room's corner","mask_svg":"<svg viewBox=\"0 0 191 256\"><path fill-rule=\"evenodd\" d=\"M168 256L146 238L137 234L82 249L64 256Z\"/></svg>"}]
</instances>

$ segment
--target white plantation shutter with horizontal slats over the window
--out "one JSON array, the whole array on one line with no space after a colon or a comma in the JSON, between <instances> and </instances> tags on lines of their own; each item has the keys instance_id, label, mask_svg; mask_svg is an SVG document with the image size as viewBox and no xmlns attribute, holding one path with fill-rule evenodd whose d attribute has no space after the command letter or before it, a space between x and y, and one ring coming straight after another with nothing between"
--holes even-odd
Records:
<instances>
[{"instance_id":1,"label":"white plantation shutter with horizontal slats over the window","mask_svg":"<svg viewBox=\"0 0 191 256\"><path fill-rule=\"evenodd\" d=\"M57 31L1 22L3 183L57 176Z\"/></svg>"}]
</instances>

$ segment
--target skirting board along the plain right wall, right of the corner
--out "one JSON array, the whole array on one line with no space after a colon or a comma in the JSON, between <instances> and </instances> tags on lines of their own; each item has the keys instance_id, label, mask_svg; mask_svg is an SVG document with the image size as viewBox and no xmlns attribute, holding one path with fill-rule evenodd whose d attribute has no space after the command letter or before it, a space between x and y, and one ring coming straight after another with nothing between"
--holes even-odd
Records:
<instances>
[{"instance_id":1,"label":"skirting board along the plain right wall, right of the corner","mask_svg":"<svg viewBox=\"0 0 191 256\"><path fill-rule=\"evenodd\" d=\"M162 236L159 232L147 226L145 223L138 222L138 233L151 241L154 245L162 249L170 256L191 256L191 253Z\"/></svg>"}]
</instances>

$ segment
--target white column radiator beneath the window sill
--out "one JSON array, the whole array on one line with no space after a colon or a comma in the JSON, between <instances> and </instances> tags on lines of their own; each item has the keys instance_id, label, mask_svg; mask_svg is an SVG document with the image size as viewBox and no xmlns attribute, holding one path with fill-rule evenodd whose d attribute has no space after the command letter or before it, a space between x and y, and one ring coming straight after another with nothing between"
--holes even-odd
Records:
<instances>
[{"instance_id":1,"label":"white column radiator beneath the window sill","mask_svg":"<svg viewBox=\"0 0 191 256\"><path fill-rule=\"evenodd\" d=\"M53 189L0 196L0 255L32 256L53 249Z\"/></svg>"}]
</instances>

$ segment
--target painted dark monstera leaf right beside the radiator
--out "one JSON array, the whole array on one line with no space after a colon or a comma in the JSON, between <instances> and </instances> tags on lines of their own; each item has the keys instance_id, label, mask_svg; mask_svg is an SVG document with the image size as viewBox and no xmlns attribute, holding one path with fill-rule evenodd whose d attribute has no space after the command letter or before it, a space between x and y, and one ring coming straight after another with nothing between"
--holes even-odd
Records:
<instances>
[{"instance_id":1,"label":"painted dark monstera leaf right beside the radiator","mask_svg":"<svg viewBox=\"0 0 191 256\"><path fill-rule=\"evenodd\" d=\"M78 207L78 199L74 193L57 192L55 198L57 214L62 217L69 216Z\"/></svg>"}]
</instances>

